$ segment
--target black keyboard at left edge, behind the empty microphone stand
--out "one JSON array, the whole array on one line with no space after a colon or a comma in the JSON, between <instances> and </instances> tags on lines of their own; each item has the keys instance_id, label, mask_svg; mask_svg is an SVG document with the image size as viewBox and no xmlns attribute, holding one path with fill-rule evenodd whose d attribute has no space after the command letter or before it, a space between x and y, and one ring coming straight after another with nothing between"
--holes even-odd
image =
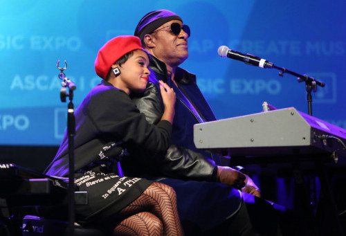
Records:
<instances>
[{"instance_id":1,"label":"black keyboard at left edge, behind the empty microphone stand","mask_svg":"<svg viewBox=\"0 0 346 236\"><path fill-rule=\"evenodd\" d=\"M67 204L68 178L48 176L13 163L0 163L0 208ZM75 203L86 204L86 192L75 192Z\"/></svg>"}]
</instances>

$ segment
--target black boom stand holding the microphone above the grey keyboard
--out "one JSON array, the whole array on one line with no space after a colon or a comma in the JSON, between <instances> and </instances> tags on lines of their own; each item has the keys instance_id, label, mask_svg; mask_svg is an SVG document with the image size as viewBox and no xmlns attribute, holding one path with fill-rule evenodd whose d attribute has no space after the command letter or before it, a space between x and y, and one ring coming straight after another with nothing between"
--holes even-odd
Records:
<instances>
[{"instance_id":1,"label":"black boom stand holding the microphone above the grey keyboard","mask_svg":"<svg viewBox=\"0 0 346 236\"><path fill-rule=\"evenodd\" d=\"M294 75L296 77L298 77L298 82L305 82L305 89L307 91L307 103L308 103L308 111L309 111L309 115L312 116L312 96L311 96L311 91L316 92L317 91L317 86L320 87L325 87L325 83L324 82L320 82L318 80L316 80L315 78L309 77L308 75L300 75L298 73L295 73L293 71L289 71L286 68L282 68L279 66L275 66L273 64L273 66L271 66L271 68L275 68L279 71L281 71L279 73L279 76L283 77L284 73L289 73L290 75Z\"/></svg>"}]
</instances>

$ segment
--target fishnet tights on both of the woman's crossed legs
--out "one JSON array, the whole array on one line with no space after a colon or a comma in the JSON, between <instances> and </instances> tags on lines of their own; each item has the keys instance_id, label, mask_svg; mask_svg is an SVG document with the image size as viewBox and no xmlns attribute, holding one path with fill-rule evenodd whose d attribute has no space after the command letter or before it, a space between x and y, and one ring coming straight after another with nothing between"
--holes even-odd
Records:
<instances>
[{"instance_id":1,"label":"fishnet tights on both of the woman's crossed legs","mask_svg":"<svg viewBox=\"0 0 346 236\"><path fill-rule=\"evenodd\" d=\"M119 212L127 217L114 229L115 235L181 236L183 229L176 209L174 190L163 183L154 182Z\"/></svg>"}]
</instances>

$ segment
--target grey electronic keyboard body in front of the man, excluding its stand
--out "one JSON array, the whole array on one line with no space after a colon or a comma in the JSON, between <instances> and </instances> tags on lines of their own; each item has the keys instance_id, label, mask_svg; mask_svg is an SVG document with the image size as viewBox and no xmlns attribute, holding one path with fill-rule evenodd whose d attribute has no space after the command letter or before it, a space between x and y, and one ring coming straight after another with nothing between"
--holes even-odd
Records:
<instances>
[{"instance_id":1,"label":"grey electronic keyboard body in front of the man, excluding its stand","mask_svg":"<svg viewBox=\"0 0 346 236\"><path fill-rule=\"evenodd\" d=\"M198 149L229 156L346 158L346 130L294 107L194 125Z\"/></svg>"}]
</instances>

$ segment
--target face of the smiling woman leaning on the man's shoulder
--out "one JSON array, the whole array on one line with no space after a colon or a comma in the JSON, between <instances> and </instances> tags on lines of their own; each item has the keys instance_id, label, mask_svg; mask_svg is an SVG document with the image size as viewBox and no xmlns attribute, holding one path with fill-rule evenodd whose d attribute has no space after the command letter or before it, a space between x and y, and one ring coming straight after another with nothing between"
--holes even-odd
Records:
<instances>
[{"instance_id":1,"label":"face of the smiling woman leaning on the man's shoulder","mask_svg":"<svg viewBox=\"0 0 346 236\"><path fill-rule=\"evenodd\" d=\"M117 65L115 64L112 67L115 66ZM134 55L131 55L125 63L119 66L120 75L116 77L116 87L127 94L145 91L149 80L148 76L150 75L148 66L149 58L147 53L141 50L134 51Z\"/></svg>"}]
</instances>

